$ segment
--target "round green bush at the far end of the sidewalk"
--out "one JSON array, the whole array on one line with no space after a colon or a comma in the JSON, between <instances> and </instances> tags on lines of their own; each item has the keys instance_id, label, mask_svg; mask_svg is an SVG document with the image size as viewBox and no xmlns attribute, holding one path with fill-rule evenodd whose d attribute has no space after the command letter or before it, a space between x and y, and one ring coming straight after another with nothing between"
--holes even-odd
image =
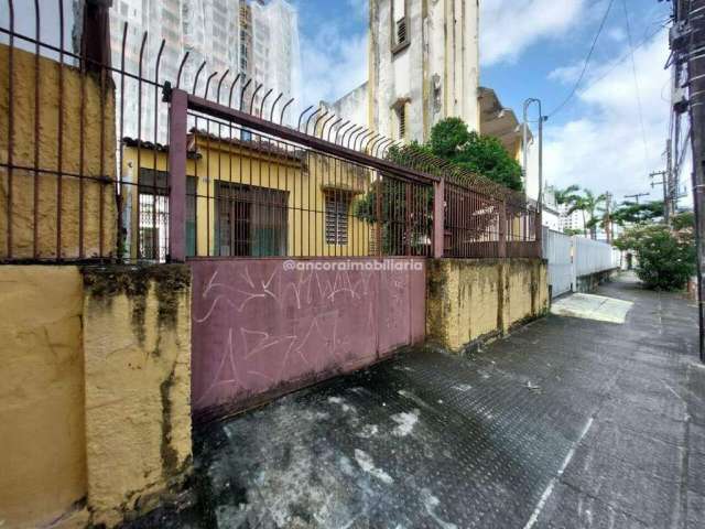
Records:
<instances>
[{"instance_id":1,"label":"round green bush at the far end of the sidewalk","mask_svg":"<svg viewBox=\"0 0 705 529\"><path fill-rule=\"evenodd\" d=\"M653 290L680 290L695 273L693 215L680 214L672 227L664 224L637 224L615 245L636 253L637 276Z\"/></svg>"}]
</instances>

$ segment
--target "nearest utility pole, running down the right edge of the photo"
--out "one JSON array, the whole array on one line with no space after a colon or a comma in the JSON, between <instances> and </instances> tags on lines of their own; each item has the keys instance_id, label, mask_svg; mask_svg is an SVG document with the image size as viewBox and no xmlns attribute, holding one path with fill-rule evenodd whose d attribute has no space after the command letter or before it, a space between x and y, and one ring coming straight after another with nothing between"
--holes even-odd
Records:
<instances>
[{"instance_id":1,"label":"nearest utility pole, running down the right edge of the photo","mask_svg":"<svg viewBox=\"0 0 705 529\"><path fill-rule=\"evenodd\" d=\"M705 0L674 0L671 50L676 64L687 66L691 147L693 152L693 205L697 245L697 300L699 353L705 361Z\"/></svg>"}]
</instances>

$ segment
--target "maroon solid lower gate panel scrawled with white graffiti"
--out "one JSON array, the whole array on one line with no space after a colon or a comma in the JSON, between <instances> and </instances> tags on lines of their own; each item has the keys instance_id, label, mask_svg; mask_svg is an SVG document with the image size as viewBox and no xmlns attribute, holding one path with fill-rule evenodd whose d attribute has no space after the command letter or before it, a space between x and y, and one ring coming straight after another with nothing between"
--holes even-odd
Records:
<instances>
[{"instance_id":1,"label":"maroon solid lower gate panel scrawled with white graffiti","mask_svg":"<svg viewBox=\"0 0 705 529\"><path fill-rule=\"evenodd\" d=\"M306 262L336 261L189 262L196 415L238 411L424 339L423 260L387 260L395 270L286 269Z\"/></svg>"}]
</instances>

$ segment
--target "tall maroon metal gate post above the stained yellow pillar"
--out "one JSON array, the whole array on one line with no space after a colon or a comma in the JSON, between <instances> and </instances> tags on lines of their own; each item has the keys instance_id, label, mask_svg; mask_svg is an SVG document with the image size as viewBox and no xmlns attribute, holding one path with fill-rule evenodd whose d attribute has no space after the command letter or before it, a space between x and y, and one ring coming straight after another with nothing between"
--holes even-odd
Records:
<instances>
[{"instance_id":1,"label":"tall maroon metal gate post above the stained yellow pillar","mask_svg":"<svg viewBox=\"0 0 705 529\"><path fill-rule=\"evenodd\" d=\"M186 110L188 96L171 90L169 106L169 260L186 260Z\"/></svg>"}]
</instances>

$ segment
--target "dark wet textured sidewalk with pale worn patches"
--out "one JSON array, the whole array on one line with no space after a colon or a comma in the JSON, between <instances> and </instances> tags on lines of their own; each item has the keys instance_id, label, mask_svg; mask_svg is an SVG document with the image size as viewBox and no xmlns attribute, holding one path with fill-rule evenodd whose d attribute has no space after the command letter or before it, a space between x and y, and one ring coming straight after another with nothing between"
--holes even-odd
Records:
<instances>
[{"instance_id":1,"label":"dark wet textured sidewalk with pale worn patches","mask_svg":"<svg viewBox=\"0 0 705 529\"><path fill-rule=\"evenodd\" d=\"M195 505L133 527L705 527L692 304L551 315L469 359L415 350L213 427Z\"/></svg>"}]
</instances>

